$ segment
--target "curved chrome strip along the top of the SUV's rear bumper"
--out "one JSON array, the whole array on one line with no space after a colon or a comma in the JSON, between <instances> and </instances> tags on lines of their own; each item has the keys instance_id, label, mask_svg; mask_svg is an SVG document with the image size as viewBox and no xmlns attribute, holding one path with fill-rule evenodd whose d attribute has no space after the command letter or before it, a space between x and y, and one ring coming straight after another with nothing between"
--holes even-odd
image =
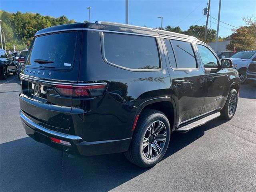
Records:
<instances>
[{"instance_id":1,"label":"curved chrome strip along the top of the SUV's rear bumper","mask_svg":"<svg viewBox=\"0 0 256 192\"><path fill-rule=\"evenodd\" d=\"M24 124L26 124L26 126L34 129L34 130L40 130L42 132L45 132L45 133L48 133L48 134L51 134L53 136L57 136L57 137L61 137L61 138L65 138L65 139L70 139L70 140L82 140L81 137L79 136L75 136L75 135L68 135L68 134L64 134L64 133L60 133L60 132L56 132L56 131L52 131L52 130L49 130L49 129L46 129L38 124L36 124L35 122L33 122L32 120L30 120L29 118L27 118L23 113L22 111L20 111L20 118L22 120L22 122Z\"/></svg>"}]
</instances>

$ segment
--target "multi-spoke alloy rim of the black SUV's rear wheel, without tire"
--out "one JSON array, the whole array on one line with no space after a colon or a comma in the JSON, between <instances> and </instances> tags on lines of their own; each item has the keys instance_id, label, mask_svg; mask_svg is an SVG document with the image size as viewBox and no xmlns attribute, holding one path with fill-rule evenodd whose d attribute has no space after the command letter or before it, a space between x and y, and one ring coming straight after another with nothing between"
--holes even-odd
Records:
<instances>
[{"instance_id":1,"label":"multi-spoke alloy rim of the black SUV's rear wheel, without tire","mask_svg":"<svg viewBox=\"0 0 256 192\"><path fill-rule=\"evenodd\" d=\"M142 152L146 159L156 158L163 150L166 142L166 126L162 121L154 121L148 126L142 141Z\"/></svg>"}]
</instances>

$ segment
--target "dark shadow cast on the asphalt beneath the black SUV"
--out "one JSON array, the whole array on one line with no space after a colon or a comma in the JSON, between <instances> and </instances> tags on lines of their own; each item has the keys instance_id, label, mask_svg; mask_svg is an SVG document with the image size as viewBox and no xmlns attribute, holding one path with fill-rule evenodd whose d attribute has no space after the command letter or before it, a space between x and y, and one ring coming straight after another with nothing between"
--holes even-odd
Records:
<instances>
[{"instance_id":1,"label":"dark shadow cast on the asphalt beneath the black SUV","mask_svg":"<svg viewBox=\"0 0 256 192\"><path fill-rule=\"evenodd\" d=\"M224 122L217 118L187 134L173 132L164 159ZM1 144L0 160L1 191L107 191L150 170L133 165L123 154L69 158L29 137Z\"/></svg>"}]
</instances>

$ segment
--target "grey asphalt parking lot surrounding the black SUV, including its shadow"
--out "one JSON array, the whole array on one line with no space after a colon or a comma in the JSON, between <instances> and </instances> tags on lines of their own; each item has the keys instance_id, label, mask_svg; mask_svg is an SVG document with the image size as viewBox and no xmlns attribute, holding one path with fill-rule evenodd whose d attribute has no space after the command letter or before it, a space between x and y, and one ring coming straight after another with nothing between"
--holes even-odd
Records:
<instances>
[{"instance_id":1,"label":"grey asphalt parking lot surrounding the black SUV, including its shadow","mask_svg":"<svg viewBox=\"0 0 256 192\"><path fill-rule=\"evenodd\" d=\"M256 90L241 87L232 120L173 133L150 169L123 154L69 158L25 134L20 81L0 81L0 191L256 191Z\"/></svg>"}]
</instances>

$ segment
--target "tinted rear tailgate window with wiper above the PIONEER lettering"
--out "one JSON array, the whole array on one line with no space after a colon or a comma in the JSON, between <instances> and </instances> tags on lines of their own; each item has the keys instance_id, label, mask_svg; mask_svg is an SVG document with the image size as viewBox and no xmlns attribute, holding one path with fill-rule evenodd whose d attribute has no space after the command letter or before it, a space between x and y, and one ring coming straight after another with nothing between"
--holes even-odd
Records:
<instances>
[{"instance_id":1,"label":"tinted rear tailgate window with wiper above the PIONEER lettering","mask_svg":"<svg viewBox=\"0 0 256 192\"><path fill-rule=\"evenodd\" d=\"M27 65L68 69L74 62L77 32L38 36L28 53Z\"/></svg>"}]
</instances>

